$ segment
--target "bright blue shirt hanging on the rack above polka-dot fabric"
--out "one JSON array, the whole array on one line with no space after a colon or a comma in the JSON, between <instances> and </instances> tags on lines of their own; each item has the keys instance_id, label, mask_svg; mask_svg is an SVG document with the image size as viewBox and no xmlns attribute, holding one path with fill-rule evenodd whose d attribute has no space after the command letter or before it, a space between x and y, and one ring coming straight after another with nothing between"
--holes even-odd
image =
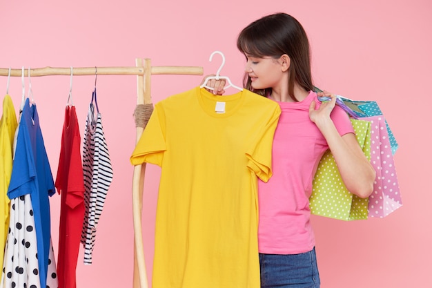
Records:
<instances>
[{"instance_id":1,"label":"bright blue shirt hanging on the rack above polka-dot fabric","mask_svg":"<svg viewBox=\"0 0 432 288\"><path fill-rule=\"evenodd\" d=\"M28 99L24 104L19 122L17 148L8 197L13 199L26 194L31 195L35 217L41 287L46 287L51 229L48 195L55 194L55 186L39 126L36 105L30 106Z\"/></svg>"}]
</instances>

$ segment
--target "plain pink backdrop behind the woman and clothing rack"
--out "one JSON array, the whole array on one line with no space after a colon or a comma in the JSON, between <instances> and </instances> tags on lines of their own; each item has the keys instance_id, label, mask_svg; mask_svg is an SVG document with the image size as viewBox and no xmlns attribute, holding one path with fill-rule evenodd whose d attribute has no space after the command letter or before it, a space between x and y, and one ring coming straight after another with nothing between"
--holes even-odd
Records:
<instances>
[{"instance_id":1,"label":"plain pink backdrop behind the woman and clothing rack","mask_svg":"<svg viewBox=\"0 0 432 288\"><path fill-rule=\"evenodd\" d=\"M404 206L384 219L342 222L313 217L323 288L426 287L432 271L431 124L432 4L429 0L364 1L2 1L1 68L29 66L203 66L241 85L244 58L235 48L239 30L272 12L288 12L306 29L315 85L351 99L380 104L400 144L395 164ZM197 86L202 76L153 75L153 102ZM68 76L33 77L43 137L57 175ZM0 77L6 93L7 77ZM28 79L26 79L28 86ZM95 77L76 76L72 95L85 117ZM94 262L77 265L78 287L131 287L133 229L130 154L135 76L99 76L98 104L115 178L97 232ZM10 95L21 102L21 79ZM149 278L159 169L148 166L144 191L144 243ZM59 195L51 200L57 253ZM429 284L426 284L429 283Z\"/></svg>"}]
</instances>

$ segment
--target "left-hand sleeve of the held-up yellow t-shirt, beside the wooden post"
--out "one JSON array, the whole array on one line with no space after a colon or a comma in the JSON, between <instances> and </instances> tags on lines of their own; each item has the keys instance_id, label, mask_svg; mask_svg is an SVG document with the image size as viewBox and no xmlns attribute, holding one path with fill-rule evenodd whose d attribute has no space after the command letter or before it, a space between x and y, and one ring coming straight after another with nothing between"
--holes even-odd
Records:
<instances>
[{"instance_id":1,"label":"left-hand sleeve of the held-up yellow t-shirt, beside the wooden post","mask_svg":"<svg viewBox=\"0 0 432 288\"><path fill-rule=\"evenodd\" d=\"M148 162L162 166L164 151L166 151L164 110L156 104L144 132L142 133L135 150L130 156L132 165Z\"/></svg>"}]
</instances>

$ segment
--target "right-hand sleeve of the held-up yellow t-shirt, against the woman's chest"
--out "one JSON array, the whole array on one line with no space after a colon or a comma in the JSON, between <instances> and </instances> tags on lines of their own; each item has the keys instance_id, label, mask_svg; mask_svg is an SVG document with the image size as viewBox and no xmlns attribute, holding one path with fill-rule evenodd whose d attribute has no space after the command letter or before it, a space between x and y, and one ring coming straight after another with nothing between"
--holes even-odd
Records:
<instances>
[{"instance_id":1,"label":"right-hand sleeve of the held-up yellow t-shirt, against the woman's chest","mask_svg":"<svg viewBox=\"0 0 432 288\"><path fill-rule=\"evenodd\" d=\"M261 131L256 135L256 140L252 142L255 145L251 146L246 152L248 168L264 182L268 182L273 175L271 151L273 148L273 136L275 135L280 113L279 105L277 105L273 116L268 120L266 125L262 126Z\"/></svg>"}]
</instances>

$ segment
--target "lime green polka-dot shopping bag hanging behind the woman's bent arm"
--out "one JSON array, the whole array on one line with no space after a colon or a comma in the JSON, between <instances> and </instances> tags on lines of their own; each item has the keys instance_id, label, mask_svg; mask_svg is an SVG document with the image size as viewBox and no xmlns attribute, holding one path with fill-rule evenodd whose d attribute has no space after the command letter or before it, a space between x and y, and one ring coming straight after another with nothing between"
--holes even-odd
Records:
<instances>
[{"instance_id":1,"label":"lime green polka-dot shopping bag hanging behind the woman's bent arm","mask_svg":"<svg viewBox=\"0 0 432 288\"><path fill-rule=\"evenodd\" d=\"M351 123L364 155L370 160L371 123L359 119L351 119ZM346 189L330 150L318 164L309 204L314 215L346 221L368 218L369 199L359 198Z\"/></svg>"}]
</instances>

